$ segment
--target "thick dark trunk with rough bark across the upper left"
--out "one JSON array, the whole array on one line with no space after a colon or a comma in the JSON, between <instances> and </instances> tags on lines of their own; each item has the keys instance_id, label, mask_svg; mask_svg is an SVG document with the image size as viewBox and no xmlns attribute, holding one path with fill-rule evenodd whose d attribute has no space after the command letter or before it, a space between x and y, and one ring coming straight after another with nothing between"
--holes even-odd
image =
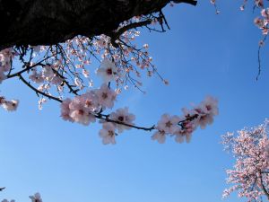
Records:
<instances>
[{"instance_id":1,"label":"thick dark trunk with rough bark across the upper left","mask_svg":"<svg viewBox=\"0 0 269 202\"><path fill-rule=\"evenodd\" d=\"M0 50L53 45L76 35L117 29L133 16L160 11L170 0L0 0ZM175 3L195 4L195 0Z\"/></svg>"}]
</instances>

